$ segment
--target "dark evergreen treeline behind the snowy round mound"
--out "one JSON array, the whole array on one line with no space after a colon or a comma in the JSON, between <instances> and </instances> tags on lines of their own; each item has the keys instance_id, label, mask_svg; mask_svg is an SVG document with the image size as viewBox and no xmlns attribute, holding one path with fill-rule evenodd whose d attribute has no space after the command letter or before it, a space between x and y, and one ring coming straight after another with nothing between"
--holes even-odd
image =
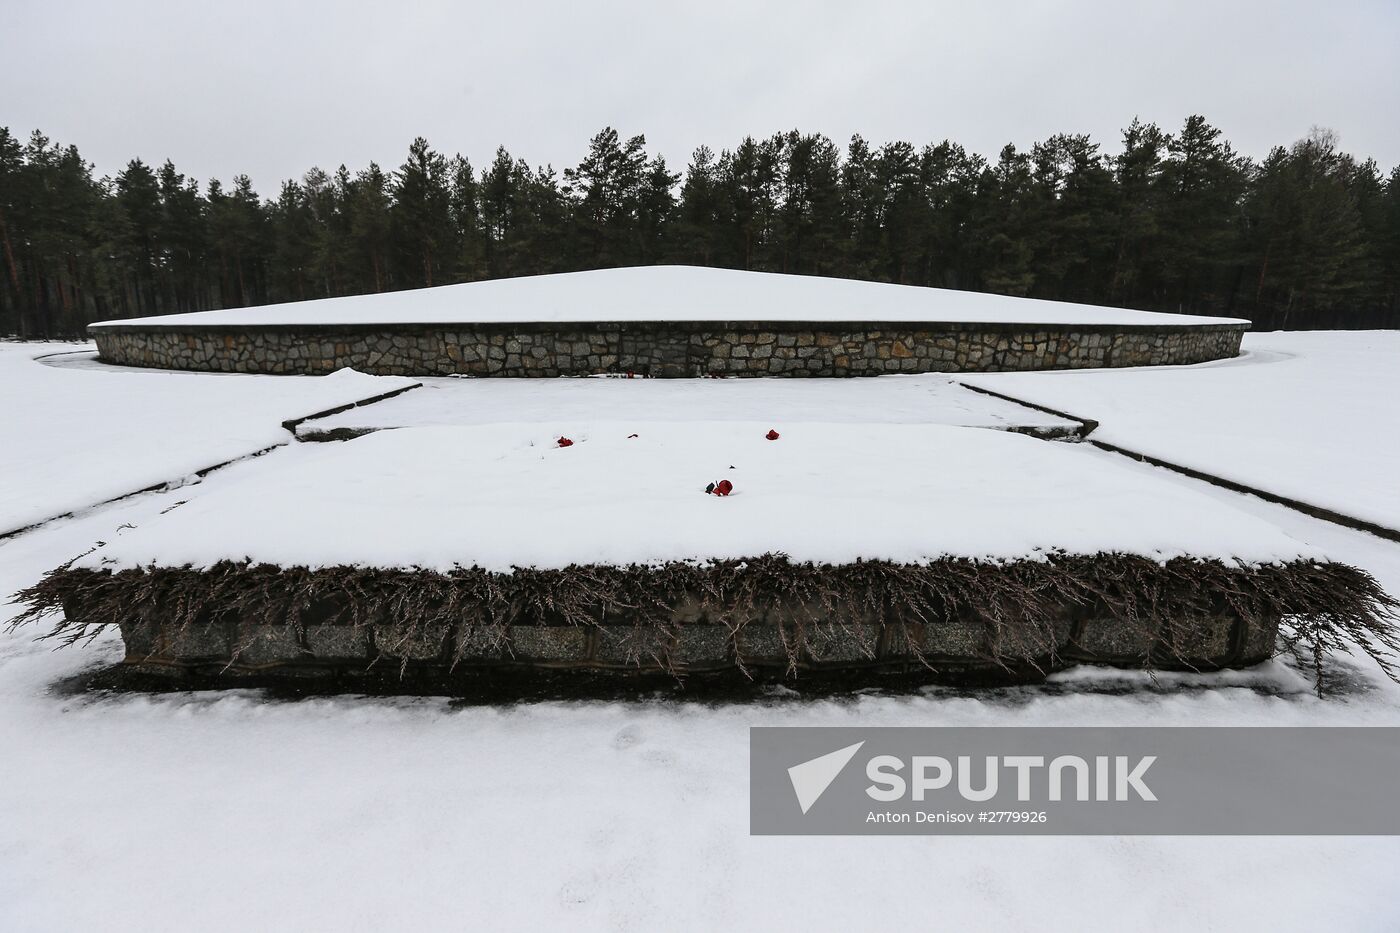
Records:
<instances>
[{"instance_id":1,"label":"dark evergreen treeline behind the snowy round mound","mask_svg":"<svg viewBox=\"0 0 1400 933\"><path fill-rule=\"evenodd\" d=\"M1117 154L1060 134L995 160L790 132L700 147L683 172L613 129L563 172L417 139L395 170L314 168L274 199L169 161L95 178L77 147L0 129L0 333L21 336L659 262L1400 326L1400 170L1322 130L1256 163L1200 116L1134 122Z\"/></svg>"}]
</instances>

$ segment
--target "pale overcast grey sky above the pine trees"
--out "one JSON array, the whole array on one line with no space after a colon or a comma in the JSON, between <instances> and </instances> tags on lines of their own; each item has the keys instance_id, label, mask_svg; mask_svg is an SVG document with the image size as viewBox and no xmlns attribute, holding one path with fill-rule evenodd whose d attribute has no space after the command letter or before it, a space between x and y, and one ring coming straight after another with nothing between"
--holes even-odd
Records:
<instances>
[{"instance_id":1,"label":"pale overcast grey sky above the pine trees","mask_svg":"<svg viewBox=\"0 0 1400 933\"><path fill-rule=\"evenodd\" d=\"M573 165L602 126L675 170L700 143L1056 132L1117 150L1193 112L1260 157L1310 126L1400 163L1400 0L160 3L0 0L0 125L102 174L172 158L263 195L307 168L393 167L414 136Z\"/></svg>"}]
</instances>

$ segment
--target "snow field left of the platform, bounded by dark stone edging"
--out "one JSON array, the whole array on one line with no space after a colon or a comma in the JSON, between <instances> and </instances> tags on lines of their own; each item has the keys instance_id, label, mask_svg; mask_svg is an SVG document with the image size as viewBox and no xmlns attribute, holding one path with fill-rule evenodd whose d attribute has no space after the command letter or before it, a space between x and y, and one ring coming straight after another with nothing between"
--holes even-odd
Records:
<instances>
[{"instance_id":1,"label":"snow field left of the platform, bounded by dark stone edging","mask_svg":"<svg viewBox=\"0 0 1400 933\"><path fill-rule=\"evenodd\" d=\"M0 342L0 534L291 440L281 422L413 380L59 368L91 349Z\"/></svg>"}]
</instances>

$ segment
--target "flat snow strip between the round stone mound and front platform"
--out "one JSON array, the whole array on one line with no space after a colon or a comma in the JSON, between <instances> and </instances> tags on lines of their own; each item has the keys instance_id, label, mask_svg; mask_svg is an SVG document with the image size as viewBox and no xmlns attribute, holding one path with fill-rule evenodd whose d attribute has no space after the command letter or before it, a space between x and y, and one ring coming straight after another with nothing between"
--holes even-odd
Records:
<instances>
[{"instance_id":1,"label":"flat snow strip between the round stone mound and front platform","mask_svg":"<svg viewBox=\"0 0 1400 933\"><path fill-rule=\"evenodd\" d=\"M423 388L378 405L307 422L301 436L512 422L668 420L921 423L995 430L1064 430L1077 422L981 395L946 375L861 380L419 380Z\"/></svg>"}]
</instances>

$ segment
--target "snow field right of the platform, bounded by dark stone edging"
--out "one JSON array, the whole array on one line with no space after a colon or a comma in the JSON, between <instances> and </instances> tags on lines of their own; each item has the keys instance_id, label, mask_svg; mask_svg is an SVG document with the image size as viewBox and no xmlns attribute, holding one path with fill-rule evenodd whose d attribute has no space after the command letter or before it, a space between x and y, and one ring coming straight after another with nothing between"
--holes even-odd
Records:
<instances>
[{"instance_id":1,"label":"snow field right of the platform, bounded by dark stone edging","mask_svg":"<svg viewBox=\"0 0 1400 933\"><path fill-rule=\"evenodd\" d=\"M1400 332L1246 333L1243 350L958 380L1098 420L1093 440L1400 530Z\"/></svg>"}]
</instances>

